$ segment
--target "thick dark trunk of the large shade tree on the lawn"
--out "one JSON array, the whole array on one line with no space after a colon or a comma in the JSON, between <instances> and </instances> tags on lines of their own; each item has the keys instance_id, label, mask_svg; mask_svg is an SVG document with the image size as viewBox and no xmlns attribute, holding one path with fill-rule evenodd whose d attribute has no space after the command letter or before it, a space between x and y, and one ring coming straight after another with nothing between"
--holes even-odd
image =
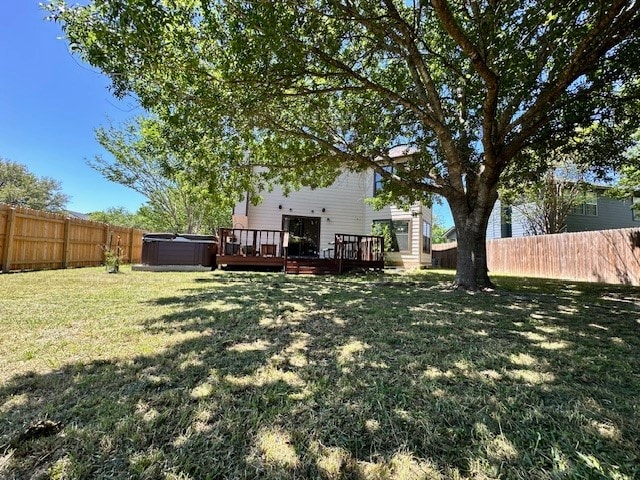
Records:
<instances>
[{"instance_id":1,"label":"thick dark trunk of the large shade tree on the lawn","mask_svg":"<svg viewBox=\"0 0 640 480\"><path fill-rule=\"evenodd\" d=\"M495 198L494 198L495 197ZM473 210L466 199L449 200L458 237L454 285L465 290L494 288L487 267L487 225L497 195L491 195Z\"/></svg>"}]
</instances>

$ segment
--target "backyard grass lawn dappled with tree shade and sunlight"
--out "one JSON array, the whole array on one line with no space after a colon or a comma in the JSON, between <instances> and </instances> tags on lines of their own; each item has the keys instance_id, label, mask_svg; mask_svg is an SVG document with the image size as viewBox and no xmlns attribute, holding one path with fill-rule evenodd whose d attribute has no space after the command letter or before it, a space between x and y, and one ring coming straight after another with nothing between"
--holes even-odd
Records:
<instances>
[{"instance_id":1,"label":"backyard grass lawn dappled with tree shade and sunlight","mask_svg":"<svg viewBox=\"0 0 640 480\"><path fill-rule=\"evenodd\" d=\"M640 477L637 289L124 270L0 276L0 478Z\"/></svg>"}]
</instances>

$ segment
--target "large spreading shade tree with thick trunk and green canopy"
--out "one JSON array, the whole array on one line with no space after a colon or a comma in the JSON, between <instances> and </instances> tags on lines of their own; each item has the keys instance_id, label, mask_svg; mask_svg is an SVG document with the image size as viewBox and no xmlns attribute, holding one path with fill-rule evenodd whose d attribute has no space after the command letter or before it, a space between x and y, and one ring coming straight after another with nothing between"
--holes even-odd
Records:
<instances>
[{"instance_id":1,"label":"large spreading shade tree with thick trunk and green canopy","mask_svg":"<svg viewBox=\"0 0 640 480\"><path fill-rule=\"evenodd\" d=\"M49 10L116 94L134 94L201 153L194 164L213 186L322 186L341 168L373 168L390 201L443 196L465 288L491 285L487 222L505 172L530 170L522 152L595 122L609 166L612 127L626 125L622 106L639 87L631 0L53 0ZM418 153L383 168L398 144Z\"/></svg>"}]
</instances>

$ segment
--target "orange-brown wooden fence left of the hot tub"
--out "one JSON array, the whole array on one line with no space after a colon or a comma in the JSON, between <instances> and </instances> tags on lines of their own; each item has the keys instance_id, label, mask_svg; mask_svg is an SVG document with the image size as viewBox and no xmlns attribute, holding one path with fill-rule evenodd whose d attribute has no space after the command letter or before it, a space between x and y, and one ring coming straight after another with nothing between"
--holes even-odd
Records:
<instances>
[{"instance_id":1,"label":"orange-brown wooden fence left of the hot tub","mask_svg":"<svg viewBox=\"0 0 640 480\"><path fill-rule=\"evenodd\" d=\"M125 262L140 262L142 230L0 204L2 272L88 267L104 263L104 247L120 237Z\"/></svg>"}]
</instances>

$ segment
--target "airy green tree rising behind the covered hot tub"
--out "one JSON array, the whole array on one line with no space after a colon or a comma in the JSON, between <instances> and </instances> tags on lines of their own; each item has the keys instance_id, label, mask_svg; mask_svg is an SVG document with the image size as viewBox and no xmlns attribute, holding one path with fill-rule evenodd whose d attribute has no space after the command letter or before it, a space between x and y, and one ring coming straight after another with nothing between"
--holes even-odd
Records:
<instances>
[{"instance_id":1,"label":"airy green tree rising behind the covered hot tub","mask_svg":"<svg viewBox=\"0 0 640 480\"><path fill-rule=\"evenodd\" d=\"M107 180L147 198L137 221L154 230L213 233L231 220L231 199L209 192L205 182L179 169L183 160L162 135L162 124L138 117L121 127L96 130L98 142L112 159L98 156L89 164ZM186 157L189 152L183 152Z\"/></svg>"}]
</instances>

